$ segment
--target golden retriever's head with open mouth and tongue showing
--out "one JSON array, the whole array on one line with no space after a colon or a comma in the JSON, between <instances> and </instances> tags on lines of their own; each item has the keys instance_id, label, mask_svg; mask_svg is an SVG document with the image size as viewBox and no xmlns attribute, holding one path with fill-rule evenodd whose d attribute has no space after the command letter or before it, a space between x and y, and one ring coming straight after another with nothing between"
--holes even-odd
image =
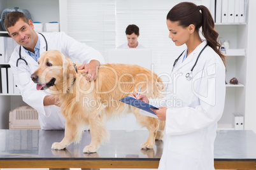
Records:
<instances>
[{"instance_id":1,"label":"golden retriever's head with open mouth and tongue showing","mask_svg":"<svg viewBox=\"0 0 256 170\"><path fill-rule=\"evenodd\" d=\"M69 77L75 78L73 62L60 51L45 51L40 55L38 64L38 69L31 75L38 90L49 88L60 92L67 86L63 82L69 82Z\"/></svg>"}]
</instances>

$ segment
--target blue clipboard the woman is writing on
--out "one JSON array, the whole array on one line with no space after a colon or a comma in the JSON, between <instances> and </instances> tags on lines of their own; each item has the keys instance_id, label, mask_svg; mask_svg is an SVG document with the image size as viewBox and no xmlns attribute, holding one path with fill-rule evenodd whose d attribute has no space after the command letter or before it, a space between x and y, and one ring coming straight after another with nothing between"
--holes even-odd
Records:
<instances>
[{"instance_id":1,"label":"blue clipboard the woman is writing on","mask_svg":"<svg viewBox=\"0 0 256 170\"><path fill-rule=\"evenodd\" d=\"M153 114L153 115L155 115L155 113L152 110L150 110L150 108L159 109L157 107L154 107L153 105L145 103L144 101L140 101L136 98L133 98L132 96L126 96L125 98L122 98L119 101L128 105L131 105L133 107L139 108L141 110L145 110L146 112L150 112L150 114Z\"/></svg>"}]
</instances>

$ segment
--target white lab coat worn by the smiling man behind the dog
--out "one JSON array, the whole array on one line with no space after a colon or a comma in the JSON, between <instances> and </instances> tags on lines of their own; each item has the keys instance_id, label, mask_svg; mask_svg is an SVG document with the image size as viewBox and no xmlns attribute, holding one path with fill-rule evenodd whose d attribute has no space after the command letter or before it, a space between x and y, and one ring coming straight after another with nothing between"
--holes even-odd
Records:
<instances>
[{"instance_id":1,"label":"white lab coat worn by the smiling man behind the dog","mask_svg":"<svg viewBox=\"0 0 256 170\"><path fill-rule=\"evenodd\" d=\"M67 57L73 57L80 61L80 63L89 63L91 60L98 60L101 64L104 63L104 58L95 49L75 41L75 39L67 36L64 32L49 32L43 34L48 43L48 50L57 49ZM46 42L43 36L38 34L40 39L40 54L46 51ZM36 84L31 80L31 74L38 69L38 63L29 56L24 48L21 48L21 56L25 62L18 63L16 67L17 59L19 58L18 45L13 51L9 64L14 75L15 82L20 89L22 99L35 108L39 114L39 123L41 129L64 129L65 121L60 113L60 108L55 105L44 106L43 98L46 95L50 95L47 91L36 90Z\"/></svg>"}]
</instances>

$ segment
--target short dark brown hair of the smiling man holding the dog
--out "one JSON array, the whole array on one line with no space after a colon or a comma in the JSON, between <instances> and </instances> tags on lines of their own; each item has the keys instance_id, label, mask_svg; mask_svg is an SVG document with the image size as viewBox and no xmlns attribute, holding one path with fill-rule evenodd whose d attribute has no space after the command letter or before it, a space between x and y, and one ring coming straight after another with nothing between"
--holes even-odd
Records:
<instances>
[{"instance_id":1,"label":"short dark brown hair of the smiling man holding the dog","mask_svg":"<svg viewBox=\"0 0 256 170\"><path fill-rule=\"evenodd\" d=\"M10 12L6 18L4 18L4 28L8 31L9 27L15 25L15 23L20 20L20 18L27 24L29 24L29 19L25 16L24 13L19 11ZM8 31L9 32L9 31Z\"/></svg>"}]
</instances>

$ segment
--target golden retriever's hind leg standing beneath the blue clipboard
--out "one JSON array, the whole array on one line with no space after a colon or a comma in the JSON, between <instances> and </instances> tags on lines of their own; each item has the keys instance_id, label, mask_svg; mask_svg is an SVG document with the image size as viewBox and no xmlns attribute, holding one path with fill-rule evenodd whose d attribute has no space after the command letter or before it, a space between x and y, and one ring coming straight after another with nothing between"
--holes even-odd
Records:
<instances>
[{"instance_id":1,"label":"golden retriever's hind leg standing beneath the blue clipboard","mask_svg":"<svg viewBox=\"0 0 256 170\"><path fill-rule=\"evenodd\" d=\"M145 143L141 144L141 148L153 148L153 145L155 145L157 130L159 129L159 120L153 117L148 117L146 115L139 114L138 108L132 108L132 112L134 113L137 122L141 124L141 126L146 127L146 129L148 129L149 132L148 139L146 140Z\"/></svg>"}]
</instances>

